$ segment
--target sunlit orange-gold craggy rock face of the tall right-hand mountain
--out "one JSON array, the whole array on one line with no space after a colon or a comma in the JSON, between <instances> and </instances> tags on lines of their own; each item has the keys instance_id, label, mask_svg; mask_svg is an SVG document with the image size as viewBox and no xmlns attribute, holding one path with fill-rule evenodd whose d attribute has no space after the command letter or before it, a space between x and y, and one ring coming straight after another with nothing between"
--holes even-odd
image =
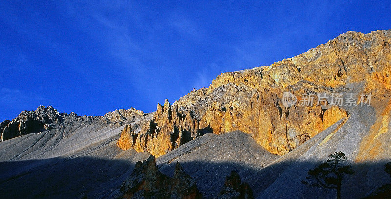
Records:
<instances>
[{"instance_id":1,"label":"sunlit orange-gold craggy rock face of the tall right-hand mountain","mask_svg":"<svg viewBox=\"0 0 391 199\"><path fill-rule=\"evenodd\" d=\"M208 88L194 89L173 105L167 100L158 104L152 119L128 139L129 145L160 156L205 133L240 130L268 151L284 155L348 117L349 107L317 103L317 94L372 93L372 99L389 98L390 49L390 30L348 31L271 66L223 73ZM286 91L299 101L312 93L314 103L301 106L298 101L285 107Z\"/></svg>"}]
</instances>

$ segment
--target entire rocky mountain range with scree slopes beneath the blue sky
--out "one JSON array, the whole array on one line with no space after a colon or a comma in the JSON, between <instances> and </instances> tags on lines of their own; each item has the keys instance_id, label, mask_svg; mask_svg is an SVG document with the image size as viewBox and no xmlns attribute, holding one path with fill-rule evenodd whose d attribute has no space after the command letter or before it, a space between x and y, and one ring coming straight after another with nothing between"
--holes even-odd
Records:
<instances>
[{"instance_id":1,"label":"entire rocky mountain range with scree slopes beneath the blue sky","mask_svg":"<svg viewBox=\"0 0 391 199\"><path fill-rule=\"evenodd\" d=\"M271 66L223 73L153 113L23 111L0 124L0 195L110 198L130 179L153 185L158 177L204 198L237 195L243 185L258 199L326 199L335 191L301 181L344 151L355 174L342 196L365 197L390 183L390 73L391 30L348 31ZM149 157L155 165L142 163ZM141 178L142 165L156 175ZM149 194L144 185L140 193Z\"/></svg>"}]
</instances>

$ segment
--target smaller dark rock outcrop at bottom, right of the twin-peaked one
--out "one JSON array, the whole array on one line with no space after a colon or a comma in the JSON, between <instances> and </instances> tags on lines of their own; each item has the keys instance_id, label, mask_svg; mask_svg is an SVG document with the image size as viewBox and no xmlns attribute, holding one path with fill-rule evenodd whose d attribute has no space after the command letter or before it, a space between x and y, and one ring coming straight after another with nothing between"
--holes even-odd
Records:
<instances>
[{"instance_id":1,"label":"smaller dark rock outcrop at bottom, right of the twin-peaked one","mask_svg":"<svg viewBox=\"0 0 391 199\"><path fill-rule=\"evenodd\" d=\"M215 199L254 199L253 191L247 183L241 183L235 171L225 177L224 186Z\"/></svg>"}]
</instances>

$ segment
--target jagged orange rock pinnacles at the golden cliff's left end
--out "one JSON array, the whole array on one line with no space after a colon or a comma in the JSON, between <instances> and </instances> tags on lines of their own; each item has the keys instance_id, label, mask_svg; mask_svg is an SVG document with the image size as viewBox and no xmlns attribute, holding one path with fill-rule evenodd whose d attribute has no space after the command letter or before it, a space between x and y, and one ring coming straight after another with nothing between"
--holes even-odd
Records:
<instances>
[{"instance_id":1,"label":"jagged orange rock pinnacles at the golden cliff's left end","mask_svg":"<svg viewBox=\"0 0 391 199\"><path fill-rule=\"evenodd\" d=\"M131 145L136 151L148 151L152 155L161 156L176 147L194 139L195 137L209 133L207 128L199 130L199 121L191 112L186 114L178 111L177 107L171 108L166 99L165 104L157 105L152 119L146 121L141 127L140 133L132 134L134 138ZM127 140L120 138L118 146L126 150Z\"/></svg>"}]
</instances>

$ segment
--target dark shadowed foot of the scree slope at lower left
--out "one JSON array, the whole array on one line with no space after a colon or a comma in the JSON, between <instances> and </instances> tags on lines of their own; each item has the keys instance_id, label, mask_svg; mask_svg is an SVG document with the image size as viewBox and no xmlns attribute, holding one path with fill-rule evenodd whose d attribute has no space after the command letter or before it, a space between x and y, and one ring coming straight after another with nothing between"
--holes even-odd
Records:
<instances>
[{"instance_id":1,"label":"dark shadowed foot of the scree slope at lower left","mask_svg":"<svg viewBox=\"0 0 391 199\"><path fill-rule=\"evenodd\" d=\"M93 156L0 162L2 199L107 198L130 175L137 161L148 157L136 153L127 159ZM24 169L26 165L39 165Z\"/></svg>"}]
</instances>

